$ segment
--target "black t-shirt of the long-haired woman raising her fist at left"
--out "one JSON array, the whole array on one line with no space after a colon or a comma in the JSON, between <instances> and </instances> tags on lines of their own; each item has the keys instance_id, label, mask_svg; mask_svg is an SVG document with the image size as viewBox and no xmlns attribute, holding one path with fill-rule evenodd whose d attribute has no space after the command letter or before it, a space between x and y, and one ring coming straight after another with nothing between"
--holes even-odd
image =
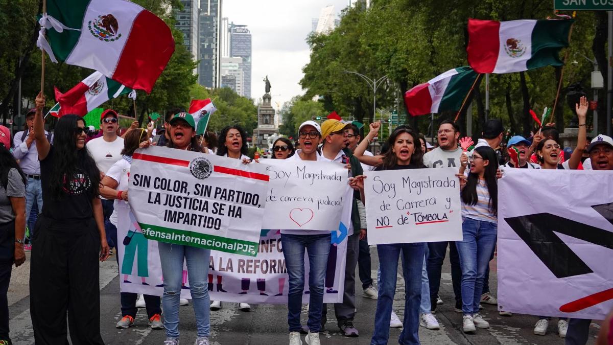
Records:
<instances>
[{"instance_id":1,"label":"black t-shirt of the long-haired woman raising her fist at left","mask_svg":"<svg viewBox=\"0 0 613 345\"><path fill-rule=\"evenodd\" d=\"M75 169L74 174L64 177L64 193L56 200L51 195L51 171L55 164L55 149L40 161L40 184L42 185L42 214L54 220L88 219L94 216L92 199L94 186L85 170ZM97 186L95 186L97 187Z\"/></svg>"}]
</instances>

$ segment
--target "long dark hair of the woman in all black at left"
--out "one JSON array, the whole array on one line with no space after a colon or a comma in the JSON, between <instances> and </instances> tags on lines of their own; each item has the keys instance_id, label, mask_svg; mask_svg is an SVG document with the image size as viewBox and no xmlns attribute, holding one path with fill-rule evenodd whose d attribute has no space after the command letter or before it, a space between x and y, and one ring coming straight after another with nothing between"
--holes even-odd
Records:
<instances>
[{"instance_id":1,"label":"long dark hair of the woman in all black at left","mask_svg":"<svg viewBox=\"0 0 613 345\"><path fill-rule=\"evenodd\" d=\"M92 198L98 196L100 171L96 166L96 161L89 155L87 144L83 146L83 149L77 149L75 128L79 121L82 121L84 126L87 125L82 117L72 114L59 118L55 125L54 164L50 176L50 192L53 200L62 200L66 196L64 189L67 189L66 184L69 183L70 176L74 176L77 167L82 169L91 180L89 195Z\"/></svg>"}]
</instances>

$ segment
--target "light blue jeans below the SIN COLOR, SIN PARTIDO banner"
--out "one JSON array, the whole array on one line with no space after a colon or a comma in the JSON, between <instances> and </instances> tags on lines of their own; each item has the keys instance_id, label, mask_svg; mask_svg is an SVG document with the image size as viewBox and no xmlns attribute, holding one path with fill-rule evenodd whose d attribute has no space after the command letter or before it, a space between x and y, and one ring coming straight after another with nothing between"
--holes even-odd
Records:
<instances>
[{"instance_id":1,"label":"light blue jeans below the SIN COLOR, SIN PARTIDO banner","mask_svg":"<svg viewBox=\"0 0 613 345\"><path fill-rule=\"evenodd\" d=\"M198 336L210 336L210 298L208 297L208 265L210 249L158 242L159 260L164 278L164 327L168 338L179 338L179 300L183 281L183 260L188 265L189 292L196 314Z\"/></svg>"}]
</instances>

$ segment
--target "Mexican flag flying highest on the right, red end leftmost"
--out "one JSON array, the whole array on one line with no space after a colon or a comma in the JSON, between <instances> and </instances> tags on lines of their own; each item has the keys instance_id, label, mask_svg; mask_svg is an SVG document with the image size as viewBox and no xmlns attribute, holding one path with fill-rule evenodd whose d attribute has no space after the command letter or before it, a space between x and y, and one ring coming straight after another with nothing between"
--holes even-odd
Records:
<instances>
[{"instance_id":1,"label":"Mexican flag flying highest on the right, red end leftmost","mask_svg":"<svg viewBox=\"0 0 613 345\"><path fill-rule=\"evenodd\" d=\"M468 63L478 73L562 66L573 20L468 20Z\"/></svg>"}]
</instances>

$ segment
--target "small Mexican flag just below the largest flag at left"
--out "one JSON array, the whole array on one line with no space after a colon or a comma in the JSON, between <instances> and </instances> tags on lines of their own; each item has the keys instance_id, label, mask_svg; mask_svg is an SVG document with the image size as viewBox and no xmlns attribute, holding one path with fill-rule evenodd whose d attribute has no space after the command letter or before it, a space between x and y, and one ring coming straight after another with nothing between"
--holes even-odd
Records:
<instances>
[{"instance_id":1,"label":"small Mexican flag just below the largest flag at left","mask_svg":"<svg viewBox=\"0 0 613 345\"><path fill-rule=\"evenodd\" d=\"M85 116L109 99L126 93L130 98L136 99L136 92L131 88L103 76L101 72L94 72L67 93L61 93L55 88L55 100L60 106L58 117L66 114Z\"/></svg>"}]
</instances>

